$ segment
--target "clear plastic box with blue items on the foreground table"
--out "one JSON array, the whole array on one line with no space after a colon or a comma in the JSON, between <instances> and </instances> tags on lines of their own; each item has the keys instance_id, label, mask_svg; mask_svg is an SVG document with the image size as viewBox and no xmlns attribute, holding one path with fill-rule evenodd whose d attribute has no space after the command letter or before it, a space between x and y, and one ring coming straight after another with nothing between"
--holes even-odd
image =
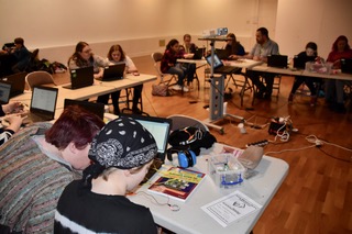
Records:
<instances>
[{"instance_id":1,"label":"clear plastic box with blue items on the foreground table","mask_svg":"<svg viewBox=\"0 0 352 234\"><path fill-rule=\"evenodd\" d=\"M245 167L232 154L221 154L209 159L209 175L220 188L233 188L243 182Z\"/></svg>"}]
</instances>

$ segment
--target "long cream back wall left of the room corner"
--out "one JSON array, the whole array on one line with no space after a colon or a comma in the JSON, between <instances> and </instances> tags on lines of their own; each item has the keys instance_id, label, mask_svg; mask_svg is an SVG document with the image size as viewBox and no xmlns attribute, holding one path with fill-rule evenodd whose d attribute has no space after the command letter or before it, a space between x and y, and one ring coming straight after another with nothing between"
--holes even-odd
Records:
<instances>
[{"instance_id":1,"label":"long cream back wall left of the room corner","mask_svg":"<svg viewBox=\"0 0 352 234\"><path fill-rule=\"evenodd\" d=\"M106 56L122 44L130 56L164 51L160 40L229 27L250 51L258 26L275 35L277 0L0 0L0 45L21 36L40 57L66 63L77 42ZM218 46L221 46L220 44Z\"/></svg>"}]
</instances>

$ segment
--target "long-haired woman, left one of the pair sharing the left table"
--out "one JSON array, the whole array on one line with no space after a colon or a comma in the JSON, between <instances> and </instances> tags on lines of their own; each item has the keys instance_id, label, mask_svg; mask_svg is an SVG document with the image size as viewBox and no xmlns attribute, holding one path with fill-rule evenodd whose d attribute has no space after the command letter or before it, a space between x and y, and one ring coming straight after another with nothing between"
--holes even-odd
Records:
<instances>
[{"instance_id":1,"label":"long-haired woman, left one of the pair sharing the left table","mask_svg":"<svg viewBox=\"0 0 352 234\"><path fill-rule=\"evenodd\" d=\"M109 66L109 62L95 55L88 43L77 43L75 53L68 58L68 68L77 69L90 66L95 68L95 78L102 78L103 68Z\"/></svg>"}]
</instances>

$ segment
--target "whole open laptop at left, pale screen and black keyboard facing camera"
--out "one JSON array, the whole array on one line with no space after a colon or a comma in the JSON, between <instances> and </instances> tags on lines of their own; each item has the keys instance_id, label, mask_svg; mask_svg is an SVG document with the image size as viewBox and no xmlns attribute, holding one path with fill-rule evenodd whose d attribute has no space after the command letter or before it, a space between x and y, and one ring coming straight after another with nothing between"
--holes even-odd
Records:
<instances>
[{"instance_id":1,"label":"whole open laptop at left, pale screen and black keyboard facing camera","mask_svg":"<svg viewBox=\"0 0 352 234\"><path fill-rule=\"evenodd\" d=\"M54 120L57 93L57 88L33 87L30 112L25 123Z\"/></svg>"}]
</instances>

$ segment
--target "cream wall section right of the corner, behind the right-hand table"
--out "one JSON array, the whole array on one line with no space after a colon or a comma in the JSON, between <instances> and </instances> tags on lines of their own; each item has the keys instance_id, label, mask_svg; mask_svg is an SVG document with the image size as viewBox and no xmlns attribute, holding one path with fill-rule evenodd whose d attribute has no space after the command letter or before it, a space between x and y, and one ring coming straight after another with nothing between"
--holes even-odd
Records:
<instances>
[{"instance_id":1,"label":"cream wall section right of the corner, behind the right-hand table","mask_svg":"<svg viewBox=\"0 0 352 234\"><path fill-rule=\"evenodd\" d=\"M292 57L312 41L318 44L318 54L327 58L339 35L348 36L352 45L351 10L351 0L278 0L276 41L280 54Z\"/></svg>"}]
</instances>

